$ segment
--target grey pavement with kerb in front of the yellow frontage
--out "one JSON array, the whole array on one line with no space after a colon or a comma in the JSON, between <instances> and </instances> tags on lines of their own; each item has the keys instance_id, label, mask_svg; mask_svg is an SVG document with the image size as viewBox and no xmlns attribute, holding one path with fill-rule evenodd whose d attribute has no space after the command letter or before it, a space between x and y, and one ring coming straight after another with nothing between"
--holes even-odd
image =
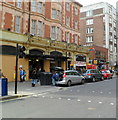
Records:
<instances>
[{"instance_id":1,"label":"grey pavement with kerb in front of the yellow frontage","mask_svg":"<svg viewBox=\"0 0 118 120\"><path fill-rule=\"evenodd\" d=\"M15 82L8 82L8 93L6 96L0 96L0 101L15 99L19 97L26 97L34 94L44 94L47 92L54 92L61 89L52 85L36 84L35 87L31 86L31 81L17 82L17 94L15 94Z\"/></svg>"}]
</instances>

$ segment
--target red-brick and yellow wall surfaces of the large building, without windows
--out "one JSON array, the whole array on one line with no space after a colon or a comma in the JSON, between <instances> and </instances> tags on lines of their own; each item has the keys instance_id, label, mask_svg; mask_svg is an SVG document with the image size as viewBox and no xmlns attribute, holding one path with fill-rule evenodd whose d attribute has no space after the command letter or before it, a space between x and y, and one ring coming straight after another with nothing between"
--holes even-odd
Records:
<instances>
[{"instance_id":1,"label":"red-brick and yellow wall surfaces of the large building, without windows","mask_svg":"<svg viewBox=\"0 0 118 120\"><path fill-rule=\"evenodd\" d=\"M40 2L40 0L38 1ZM80 19L80 7L81 5L75 2L70 2L70 12L66 11L65 8L65 2L62 3L51 3L51 2L43 2L43 12L39 13L38 8L36 11L32 11L32 8L29 7L31 3L28 2L22 2L21 7L17 7L17 2L0 2L0 6L2 6L1 12L1 30L3 31L2 38L0 37L0 41L2 41L2 44L8 45L8 46L15 46L16 43L18 43L21 46L26 47L26 54L29 54L29 51L32 49L38 49L43 50L43 55L50 55L52 51L59 51L62 53L63 56L68 57L69 53L71 53L70 61L75 62L75 55L79 54L81 51L81 54L88 55L88 49L80 50L80 48L77 46L80 44L80 23L78 21L77 29L75 29L74 22L75 20ZM60 10L62 20L58 19L52 19L52 8ZM75 8L78 10L78 14L75 15ZM29 10L30 9L30 10ZM29 12L30 11L30 12ZM30 14L29 14L30 13ZM17 16L20 17L20 31L16 31L16 20L18 19ZM70 17L70 26L66 25L66 16ZM29 22L30 17L30 22ZM38 21L42 21L44 30L44 34L42 36L33 35L32 34L32 20L36 20L36 32L38 31ZM29 24L30 23L30 24ZM62 38L60 41L51 40L51 26L59 27L62 30ZM0 30L0 31L1 31ZM30 32L30 34L29 34ZM70 34L70 40L67 44L66 41L66 35L65 33L69 32ZM74 41L74 35L77 35L78 40ZM70 44L75 43L75 44ZM14 80L14 66L15 66L15 56L2 56L2 68L5 75L8 76L9 81ZM5 59L5 60L4 60ZM13 64L10 65L13 62ZM50 60L44 60L44 66L43 69L46 72L50 72ZM27 73L27 79L29 79L29 59L27 58L21 58L18 61L18 68L20 65L23 66L23 69L26 70ZM9 66L10 65L10 66ZM5 66L5 67L4 67ZM62 61L61 67L63 69L67 69L67 62ZM7 69L6 69L7 68ZM12 72L10 72L12 71ZM19 72L19 71L18 71ZM18 78L19 80L19 78Z\"/></svg>"}]
</instances>

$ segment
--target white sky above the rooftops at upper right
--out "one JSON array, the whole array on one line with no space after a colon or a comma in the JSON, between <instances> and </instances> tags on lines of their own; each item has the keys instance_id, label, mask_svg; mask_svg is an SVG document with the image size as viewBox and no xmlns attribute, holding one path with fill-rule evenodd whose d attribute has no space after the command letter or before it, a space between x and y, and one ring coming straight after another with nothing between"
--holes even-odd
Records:
<instances>
[{"instance_id":1,"label":"white sky above the rooftops at upper right","mask_svg":"<svg viewBox=\"0 0 118 120\"><path fill-rule=\"evenodd\" d=\"M98 2L107 2L116 8L116 2L118 0L76 0L76 1L78 1L83 6L91 5L91 4L98 3Z\"/></svg>"}]
</instances>

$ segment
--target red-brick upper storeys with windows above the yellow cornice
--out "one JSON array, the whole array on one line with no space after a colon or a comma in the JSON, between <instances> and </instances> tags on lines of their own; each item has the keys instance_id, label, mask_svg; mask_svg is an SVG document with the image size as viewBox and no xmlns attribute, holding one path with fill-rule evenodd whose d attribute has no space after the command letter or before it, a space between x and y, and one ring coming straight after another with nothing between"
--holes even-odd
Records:
<instances>
[{"instance_id":1,"label":"red-brick upper storeys with windows above the yellow cornice","mask_svg":"<svg viewBox=\"0 0 118 120\"><path fill-rule=\"evenodd\" d=\"M3 7L0 14L2 30L21 34L27 34L30 31L39 37L79 45L81 4L41 0L34 0L31 3L4 1L1 3Z\"/></svg>"}]
</instances>

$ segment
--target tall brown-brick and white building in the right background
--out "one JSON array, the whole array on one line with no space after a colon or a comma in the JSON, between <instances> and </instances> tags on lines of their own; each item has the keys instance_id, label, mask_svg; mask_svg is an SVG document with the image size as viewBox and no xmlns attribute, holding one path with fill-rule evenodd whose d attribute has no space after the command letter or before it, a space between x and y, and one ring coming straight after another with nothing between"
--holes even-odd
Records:
<instances>
[{"instance_id":1,"label":"tall brown-brick and white building in the right background","mask_svg":"<svg viewBox=\"0 0 118 120\"><path fill-rule=\"evenodd\" d=\"M88 11L92 11L91 16L86 16ZM86 20L93 19L93 24L86 25ZM108 60L110 66L116 64L116 9L108 3L96 3L81 8L80 19L81 45L98 45L108 48ZM87 34L86 28L93 27L93 33ZM85 32L85 33L83 33ZM85 37L84 37L85 36ZM87 36L93 36L93 42L86 42Z\"/></svg>"}]
</instances>

